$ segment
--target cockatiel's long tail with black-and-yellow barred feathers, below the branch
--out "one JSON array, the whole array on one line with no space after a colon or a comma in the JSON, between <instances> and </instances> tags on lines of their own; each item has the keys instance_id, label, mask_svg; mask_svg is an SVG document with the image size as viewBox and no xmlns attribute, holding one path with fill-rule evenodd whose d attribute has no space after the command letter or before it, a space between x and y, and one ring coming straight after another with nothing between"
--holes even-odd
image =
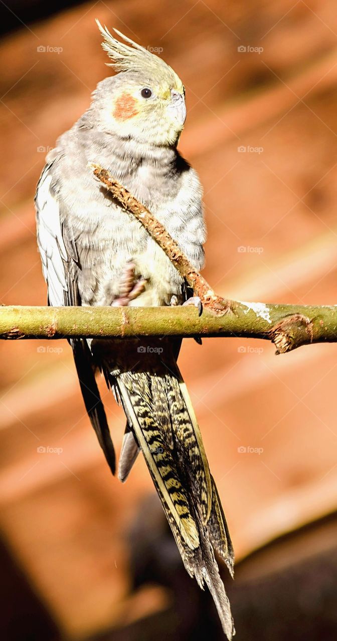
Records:
<instances>
[{"instance_id":1,"label":"cockatiel's long tail with black-and-yellow barred feathers, below the branch","mask_svg":"<svg viewBox=\"0 0 337 641\"><path fill-rule=\"evenodd\" d=\"M114 372L114 381L128 418L125 451L130 450L131 431L143 451L186 570L201 588L207 583L230 640L235 630L214 551L231 575L234 554L186 385L176 365L174 373L167 368L154 373L124 371L117 376ZM128 471L123 472L125 478Z\"/></svg>"}]
</instances>

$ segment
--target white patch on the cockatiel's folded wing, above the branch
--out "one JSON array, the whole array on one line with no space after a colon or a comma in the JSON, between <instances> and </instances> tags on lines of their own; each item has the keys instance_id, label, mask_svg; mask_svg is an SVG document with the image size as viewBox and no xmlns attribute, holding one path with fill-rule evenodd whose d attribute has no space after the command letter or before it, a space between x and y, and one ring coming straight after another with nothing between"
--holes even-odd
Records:
<instances>
[{"instance_id":1,"label":"white patch on the cockatiel's folded wing, above the branch","mask_svg":"<svg viewBox=\"0 0 337 641\"><path fill-rule=\"evenodd\" d=\"M52 176L47 167L37 187L35 206L37 210L37 243L42 260L42 271L48 284L49 303L54 306L65 304L68 291L65 279L64 260L68 260L62 238L60 208L53 196L50 185Z\"/></svg>"}]
</instances>

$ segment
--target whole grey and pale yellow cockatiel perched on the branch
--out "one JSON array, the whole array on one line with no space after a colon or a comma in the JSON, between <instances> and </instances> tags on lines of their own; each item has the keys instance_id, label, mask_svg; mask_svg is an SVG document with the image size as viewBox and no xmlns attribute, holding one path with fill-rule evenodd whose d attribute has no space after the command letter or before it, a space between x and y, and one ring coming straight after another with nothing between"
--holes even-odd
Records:
<instances>
[{"instance_id":1,"label":"whole grey and pale yellow cockatiel perched on the branch","mask_svg":"<svg viewBox=\"0 0 337 641\"><path fill-rule=\"evenodd\" d=\"M35 197L37 238L51 305L183 304L187 289L162 249L101 187L90 163L107 169L158 219L196 269L203 266L202 188L177 143L185 90L161 58L116 31L103 48L118 72L47 156ZM127 43L127 44L126 44ZM176 339L71 340L83 399L110 469L114 446L95 372L125 410L119 478L143 452L182 560L204 581L223 630L234 634L214 553L233 572L229 531L186 385Z\"/></svg>"}]
</instances>

